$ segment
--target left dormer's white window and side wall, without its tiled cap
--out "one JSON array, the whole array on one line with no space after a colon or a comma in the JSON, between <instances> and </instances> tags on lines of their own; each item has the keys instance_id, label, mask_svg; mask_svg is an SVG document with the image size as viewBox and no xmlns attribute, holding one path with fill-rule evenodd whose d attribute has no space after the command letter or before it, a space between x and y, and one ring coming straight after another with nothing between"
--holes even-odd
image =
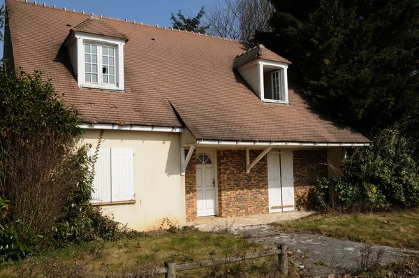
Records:
<instances>
[{"instance_id":1,"label":"left dormer's white window and side wall, without its tiled cap","mask_svg":"<svg viewBox=\"0 0 419 278\"><path fill-rule=\"evenodd\" d=\"M124 45L123 39L76 31L68 53L78 86L124 90Z\"/></svg>"}]
</instances>

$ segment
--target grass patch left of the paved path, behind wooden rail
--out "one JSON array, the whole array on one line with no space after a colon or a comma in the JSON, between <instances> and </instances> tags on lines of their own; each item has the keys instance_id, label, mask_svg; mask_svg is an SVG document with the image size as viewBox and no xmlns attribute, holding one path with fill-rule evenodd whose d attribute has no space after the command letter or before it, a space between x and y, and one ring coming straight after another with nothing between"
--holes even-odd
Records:
<instances>
[{"instance_id":1,"label":"grass patch left of the paved path, behind wooden rail","mask_svg":"<svg viewBox=\"0 0 419 278\"><path fill-rule=\"evenodd\" d=\"M24 268L28 269L27 272L30 272L29 268L49 272L51 271L50 265L57 262L60 265L68 264L69 268L74 268L76 262L82 262L84 270L89 275L93 275L89 277L105 277L105 275L112 273L128 272L135 265L154 263L161 268L164 266L164 261L168 260L175 260L177 264L182 264L205 261L210 259L211 256L221 258L267 249L272 249L272 247L247 242L247 240L228 234L218 235L197 231L177 234L161 232L117 242L91 242L89 244L73 245L65 249L45 252L32 258L31 261L2 263L0 264L0 277L13 277L18 270ZM258 263L263 265L264 261L258 259L247 263L249 264L247 268L257 273ZM66 270L61 272L64 271ZM210 271L208 268L195 270L195 272L189 272L189 277L201 277L208 271ZM182 274L184 272L179 272L179 275ZM34 276L28 275L25 277ZM54 277L54 275L51 277ZM258 277L258 275L255 277Z\"/></svg>"}]
</instances>

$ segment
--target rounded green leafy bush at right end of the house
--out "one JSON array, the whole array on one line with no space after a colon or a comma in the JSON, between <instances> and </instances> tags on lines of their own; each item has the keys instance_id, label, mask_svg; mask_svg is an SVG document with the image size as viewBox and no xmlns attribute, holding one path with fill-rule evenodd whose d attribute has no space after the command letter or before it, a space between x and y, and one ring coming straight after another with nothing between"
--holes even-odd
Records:
<instances>
[{"instance_id":1,"label":"rounded green leafy bush at right end of the house","mask_svg":"<svg viewBox=\"0 0 419 278\"><path fill-rule=\"evenodd\" d=\"M317 196L324 200L332 187L337 205L347 210L418 207L418 165L411 154L409 141L397 127L385 129L369 147L346 162L344 177L319 180Z\"/></svg>"}]
</instances>

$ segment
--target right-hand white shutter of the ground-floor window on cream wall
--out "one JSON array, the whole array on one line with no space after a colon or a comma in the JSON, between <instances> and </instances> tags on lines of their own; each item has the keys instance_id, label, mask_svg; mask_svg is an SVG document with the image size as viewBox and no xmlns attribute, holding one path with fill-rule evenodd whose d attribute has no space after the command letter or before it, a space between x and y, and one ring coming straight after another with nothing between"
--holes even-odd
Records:
<instances>
[{"instance_id":1,"label":"right-hand white shutter of the ground-floor window on cream wall","mask_svg":"<svg viewBox=\"0 0 419 278\"><path fill-rule=\"evenodd\" d=\"M112 147L112 202L134 199L133 148Z\"/></svg>"}]
</instances>

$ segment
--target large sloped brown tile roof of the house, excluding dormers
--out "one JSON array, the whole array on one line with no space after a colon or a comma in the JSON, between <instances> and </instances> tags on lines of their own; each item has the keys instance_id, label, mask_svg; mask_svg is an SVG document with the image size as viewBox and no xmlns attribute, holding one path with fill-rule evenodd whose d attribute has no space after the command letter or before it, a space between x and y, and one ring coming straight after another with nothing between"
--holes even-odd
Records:
<instances>
[{"instance_id":1,"label":"large sloped brown tile roof of the house, excluding dormers","mask_svg":"<svg viewBox=\"0 0 419 278\"><path fill-rule=\"evenodd\" d=\"M233 70L237 54L253 46L203 34L101 17L129 38L125 92L79 88L63 43L91 15L17 0L8 0L7 7L15 66L43 71L84 122L173 127L182 122L196 138L208 140L369 142L312 110L293 89L290 105L262 103ZM279 57L272 53L264 49L261 55Z\"/></svg>"}]
</instances>

